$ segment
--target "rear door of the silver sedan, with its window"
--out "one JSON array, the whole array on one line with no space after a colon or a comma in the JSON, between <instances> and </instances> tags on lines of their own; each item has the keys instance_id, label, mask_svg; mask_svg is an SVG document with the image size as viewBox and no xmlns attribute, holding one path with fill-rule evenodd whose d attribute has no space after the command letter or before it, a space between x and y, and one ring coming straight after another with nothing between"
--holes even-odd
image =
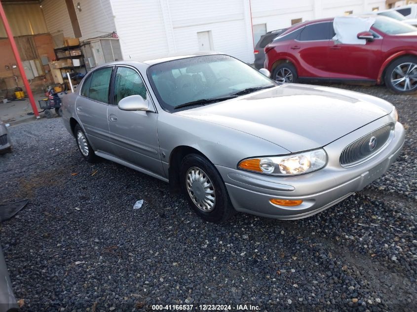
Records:
<instances>
[{"instance_id":1,"label":"rear door of the silver sedan, with its window","mask_svg":"<svg viewBox=\"0 0 417 312\"><path fill-rule=\"evenodd\" d=\"M76 114L94 150L111 152L107 107L113 67L96 69L82 83Z\"/></svg>"}]
</instances>

